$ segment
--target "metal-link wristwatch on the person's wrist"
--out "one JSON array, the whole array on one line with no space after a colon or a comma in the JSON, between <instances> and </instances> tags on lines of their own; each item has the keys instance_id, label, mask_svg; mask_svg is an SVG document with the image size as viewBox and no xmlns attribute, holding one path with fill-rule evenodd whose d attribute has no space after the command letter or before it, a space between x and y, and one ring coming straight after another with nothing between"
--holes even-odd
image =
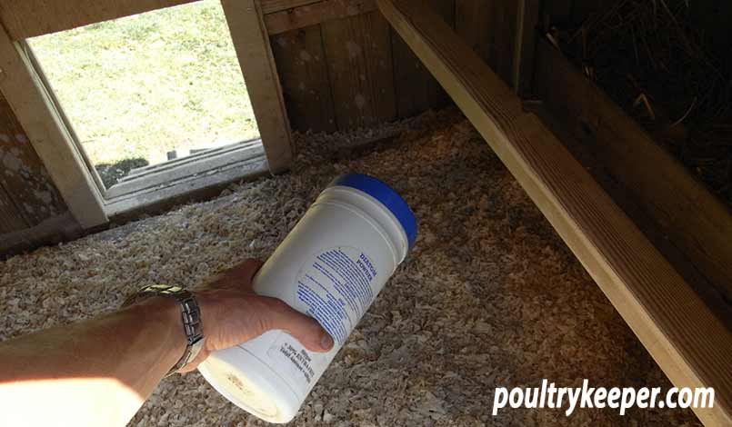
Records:
<instances>
[{"instance_id":1,"label":"metal-link wristwatch on the person's wrist","mask_svg":"<svg viewBox=\"0 0 732 427\"><path fill-rule=\"evenodd\" d=\"M186 364L192 360L196 359L196 356L204 347L206 337L204 337L203 328L201 326L201 310L198 308L196 296L180 286L170 286L167 284L151 284L149 286L145 286L136 293L128 296L122 306L126 307L127 305L140 302L152 296L173 298L175 301L180 303L183 332L186 333L186 352L184 352L180 360L175 363L175 366L165 374L167 377L186 366Z\"/></svg>"}]
</instances>

